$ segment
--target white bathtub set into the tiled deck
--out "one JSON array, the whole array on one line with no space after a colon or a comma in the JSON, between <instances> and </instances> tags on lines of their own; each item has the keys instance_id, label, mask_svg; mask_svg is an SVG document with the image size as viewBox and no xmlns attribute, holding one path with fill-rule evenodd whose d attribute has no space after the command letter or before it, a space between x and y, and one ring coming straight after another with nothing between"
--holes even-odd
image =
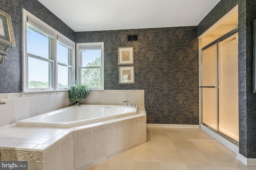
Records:
<instances>
[{"instance_id":1,"label":"white bathtub set into the tiled deck","mask_svg":"<svg viewBox=\"0 0 256 170\"><path fill-rule=\"evenodd\" d=\"M137 113L137 107L122 105L70 106L16 122L16 125L73 127Z\"/></svg>"}]
</instances>

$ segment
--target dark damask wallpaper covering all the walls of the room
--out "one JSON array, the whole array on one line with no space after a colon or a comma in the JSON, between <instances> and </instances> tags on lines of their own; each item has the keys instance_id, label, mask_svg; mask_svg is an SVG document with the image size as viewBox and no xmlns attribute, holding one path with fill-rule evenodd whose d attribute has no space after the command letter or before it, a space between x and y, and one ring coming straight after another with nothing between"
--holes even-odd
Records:
<instances>
[{"instance_id":1,"label":"dark damask wallpaper covering all the walls of the room","mask_svg":"<svg viewBox=\"0 0 256 170\"><path fill-rule=\"evenodd\" d=\"M148 123L198 124L198 41L211 25L239 4L240 154L256 158L256 95L252 94L252 0L221 0L197 27L74 33L37 0L1 0L12 17L16 47L0 65L0 93L22 91L22 8L77 43L104 42L105 88L144 89ZM139 41L127 42L127 34ZM118 84L118 47L134 47L135 84Z\"/></svg>"}]
</instances>

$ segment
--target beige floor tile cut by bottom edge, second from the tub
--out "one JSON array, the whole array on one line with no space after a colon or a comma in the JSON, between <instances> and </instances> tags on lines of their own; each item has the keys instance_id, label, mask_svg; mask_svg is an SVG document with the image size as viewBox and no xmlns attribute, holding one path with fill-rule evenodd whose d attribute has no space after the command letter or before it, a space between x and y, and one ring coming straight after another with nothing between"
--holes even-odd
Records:
<instances>
[{"instance_id":1,"label":"beige floor tile cut by bottom edge, second from the tub","mask_svg":"<svg viewBox=\"0 0 256 170\"><path fill-rule=\"evenodd\" d=\"M110 159L104 170L132 170L133 160Z\"/></svg>"}]
</instances>

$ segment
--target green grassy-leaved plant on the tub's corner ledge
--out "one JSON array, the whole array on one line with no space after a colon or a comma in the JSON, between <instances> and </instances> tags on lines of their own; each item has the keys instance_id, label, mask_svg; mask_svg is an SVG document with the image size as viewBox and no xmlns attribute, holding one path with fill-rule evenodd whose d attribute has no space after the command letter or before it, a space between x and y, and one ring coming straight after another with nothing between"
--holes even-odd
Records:
<instances>
[{"instance_id":1,"label":"green grassy-leaved plant on the tub's corner ledge","mask_svg":"<svg viewBox=\"0 0 256 170\"><path fill-rule=\"evenodd\" d=\"M71 102L71 106L76 104L81 106L81 104L85 101L87 96L90 95L90 90L88 86L82 84L74 84L68 88L69 90L69 100Z\"/></svg>"}]
</instances>

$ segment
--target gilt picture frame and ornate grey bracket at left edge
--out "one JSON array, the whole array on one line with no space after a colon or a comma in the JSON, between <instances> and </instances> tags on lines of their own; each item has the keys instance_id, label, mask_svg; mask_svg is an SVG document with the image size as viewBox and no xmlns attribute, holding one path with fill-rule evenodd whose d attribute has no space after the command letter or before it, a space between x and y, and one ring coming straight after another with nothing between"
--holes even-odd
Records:
<instances>
[{"instance_id":1,"label":"gilt picture frame and ornate grey bracket at left edge","mask_svg":"<svg viewBox=\"0 0 256 170\"><path fill-rule=\"evenodd\" d=\"M15 46L11 16L0 10L0 64L8 55L6 51Z\"/></svg>"}]
</instances>

